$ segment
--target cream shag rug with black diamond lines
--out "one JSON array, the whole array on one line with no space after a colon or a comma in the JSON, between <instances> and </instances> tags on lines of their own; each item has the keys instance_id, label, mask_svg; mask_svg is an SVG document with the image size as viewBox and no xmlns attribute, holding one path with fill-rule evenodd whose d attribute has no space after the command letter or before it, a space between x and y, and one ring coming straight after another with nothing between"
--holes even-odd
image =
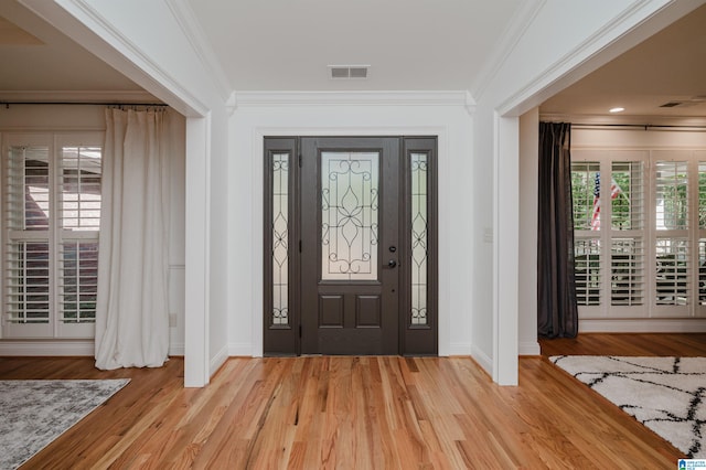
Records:
<instances>
[{"instance_id":1,"label":"cream shag rug with black diamond lines","mask_svg":"<svg viewBox=\"0 0 706 470\"><path fill-rule=\"evenodd\" d=\"M706 357L554 356L688 458L706 458Z\"/></svg>"}]
</instances>

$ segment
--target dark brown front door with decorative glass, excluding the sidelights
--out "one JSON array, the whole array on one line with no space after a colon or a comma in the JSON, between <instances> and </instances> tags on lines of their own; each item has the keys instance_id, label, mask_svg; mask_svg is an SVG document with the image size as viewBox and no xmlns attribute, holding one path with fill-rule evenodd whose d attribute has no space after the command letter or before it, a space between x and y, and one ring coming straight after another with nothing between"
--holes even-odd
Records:
<instances>
[{"instance_id":1,"label":"dark brown front door with decorative glass, excluding the sidelights","mask_svg":"<svg viewBox=\"0 0 706 470\"><path fill-rule=\"evenodd\" d=\"M397 354L399 139L301 147L301 352Z\"/></svg>"}]
</instances>

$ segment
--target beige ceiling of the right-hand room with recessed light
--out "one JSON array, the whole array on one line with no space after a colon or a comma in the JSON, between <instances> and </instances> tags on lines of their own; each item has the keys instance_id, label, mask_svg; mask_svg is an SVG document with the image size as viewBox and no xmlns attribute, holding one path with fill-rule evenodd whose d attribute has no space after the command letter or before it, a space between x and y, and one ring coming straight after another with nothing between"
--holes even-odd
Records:
<instances>
[{"instance_id":1,"label":"beige ceiling of the right-hand room with recessed light","mask_svg":"<svg viewBox=\"0 0 706 470\"><path fill-rule=\"evenodd\" d=\"M673 107L661 107L675 103ZM547 99L543 115L706 117L706 6Z\"/></svg>"}]
</instances>

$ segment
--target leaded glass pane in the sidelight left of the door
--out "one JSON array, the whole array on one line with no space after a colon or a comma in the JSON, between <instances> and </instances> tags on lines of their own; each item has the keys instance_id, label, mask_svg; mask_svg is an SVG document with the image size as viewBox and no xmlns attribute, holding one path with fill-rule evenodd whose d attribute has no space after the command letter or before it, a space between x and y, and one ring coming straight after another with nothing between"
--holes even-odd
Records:
<instances>
[{"instance_id":1,"label":"leaded glass pane in the sidelight left of the door","mask_svg":"<svg viewBox=\"0 0 706 470\"><path fill-rule=\"evenodd\" d=\"M289 153L272 154L272 324L289 324Z\"/></svg>"}]
</instances>

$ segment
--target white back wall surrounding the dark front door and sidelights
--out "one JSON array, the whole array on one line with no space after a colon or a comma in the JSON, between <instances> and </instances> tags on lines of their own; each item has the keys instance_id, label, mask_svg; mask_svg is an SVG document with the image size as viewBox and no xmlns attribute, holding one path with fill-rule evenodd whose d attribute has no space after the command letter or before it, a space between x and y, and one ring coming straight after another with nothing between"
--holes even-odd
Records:
<instances>
[{"instance_id":1,"label":"white back wall surrounding the dark front door and sidelights","mask_svg":"<svg viewBox=\"0 0 706 470\"><path fill-rule=\"evenodd\" d=\"M318 94L237 95L227 213L231 355L263 354L263 137L277 135L439 136L439 353L471 353L472 118L464 94L451 94L451 104L448 98L351 94L338 95L332 104Z\"/></svg>"}]
</instances>

